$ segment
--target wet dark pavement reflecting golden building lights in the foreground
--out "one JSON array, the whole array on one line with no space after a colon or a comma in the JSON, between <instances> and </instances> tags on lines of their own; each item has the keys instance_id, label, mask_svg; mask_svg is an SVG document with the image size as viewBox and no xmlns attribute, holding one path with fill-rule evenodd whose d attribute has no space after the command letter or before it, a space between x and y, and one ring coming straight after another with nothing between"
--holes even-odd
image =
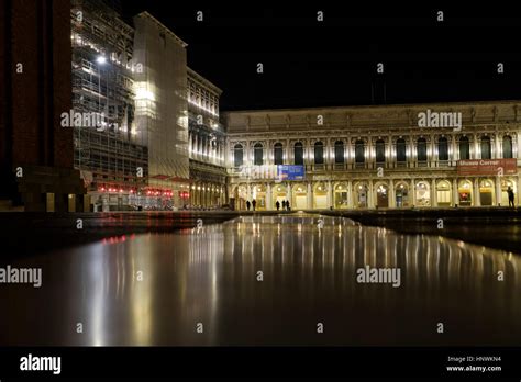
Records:
<instances>
[{"instance_id":1,"label":"wet dark pavement reflecting golden building lights in the foreground","mask_svg":"<svg viewBox=\"0 0 521 382\"><path fill-rule=\"evenodd\" d=\"M0 345L521 342L519 256L341 217L243 216L10 265L43 280L0 285ZM399 286L358 282L366 266Z\"/></svg>"}]
</instances>

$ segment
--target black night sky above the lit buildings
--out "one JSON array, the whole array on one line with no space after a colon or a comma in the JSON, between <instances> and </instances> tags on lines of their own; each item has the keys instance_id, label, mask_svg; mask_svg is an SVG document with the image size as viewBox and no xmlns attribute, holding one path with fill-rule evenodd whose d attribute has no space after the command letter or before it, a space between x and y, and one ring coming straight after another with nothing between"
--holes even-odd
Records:
<instances>
[{"instance_id":1,"label":"black night sky above the lit buildings","mask_svg":"<svg viewBox=\"0 0 521 382\"><path fill-rule=\"evenodd\" d=\"M352 3L124 0L122 7L128 19L148 11L188 43L188 65L224 91L222 111L521 99L521 16L513 5Z\"/></svg>"}]
</instances>

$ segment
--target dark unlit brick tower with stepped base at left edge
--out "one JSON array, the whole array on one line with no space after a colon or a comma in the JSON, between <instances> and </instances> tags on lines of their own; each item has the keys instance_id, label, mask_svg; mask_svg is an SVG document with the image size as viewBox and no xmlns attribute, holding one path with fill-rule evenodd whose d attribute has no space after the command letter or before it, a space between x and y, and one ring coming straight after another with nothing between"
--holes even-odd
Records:
<instances>
[{"instance_id":1,"label":"dark unlit brick tower with stepped base at left edge","mask_svg":"<svg viewBox=\"0 0 521 382\"><path fill-rule=\"evenodd\" d=\"M45 211L46 193L58 205L85 190L73 168L73 130L60 126L60 114L71 109L70 1L2 0L0 7L0 199ZM23 177L15 177L16 167Z\"/></svg>"}]
</instances>

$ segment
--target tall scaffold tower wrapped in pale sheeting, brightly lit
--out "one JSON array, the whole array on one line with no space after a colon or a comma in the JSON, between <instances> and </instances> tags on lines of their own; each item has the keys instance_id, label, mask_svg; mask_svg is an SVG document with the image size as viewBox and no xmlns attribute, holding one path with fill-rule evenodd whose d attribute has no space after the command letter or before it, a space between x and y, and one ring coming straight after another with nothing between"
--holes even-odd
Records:
<instances>
[{"instance_id":1,"label":"tall scaffold tower wrapped in pale sheeting, brightly lit","mask_svg":"<svg viewBox=\"0 0 521 382\"><path fill-rule=\"evenodd\" d=\"M147 12L134 18L135 133L148 147L151 195L187 204L189 186L186 43Z\"/></svg>"}]
</instances>

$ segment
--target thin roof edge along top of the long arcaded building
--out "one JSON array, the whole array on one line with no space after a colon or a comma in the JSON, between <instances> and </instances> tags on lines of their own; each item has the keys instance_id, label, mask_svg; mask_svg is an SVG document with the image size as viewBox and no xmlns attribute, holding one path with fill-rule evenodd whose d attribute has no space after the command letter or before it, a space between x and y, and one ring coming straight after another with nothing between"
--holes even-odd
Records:
<instances>
[{"instance_id":1,"label":"thin roof edge along top of the long arcaded building","mask_svg":"<svg viewBox=\"0 0 521 382\"><path fill-rule=\"evenodd\" d=\"M345 106L317 106L317 108L291 108L291 109L250 109L250 110L230 110L221 111L221 114L231 113L277 113L277 112L301 112L304 110L345 110L345 109L383 109L383 108L418 108L434 105L470 105L470 104L501 104L501 103L520 103L521 100L495 100L495 101L466 101L466 102L430 102L430 103L388 103L388 104L370 104L370 105L345 105Z\"/></svg>"}]
</instances>

